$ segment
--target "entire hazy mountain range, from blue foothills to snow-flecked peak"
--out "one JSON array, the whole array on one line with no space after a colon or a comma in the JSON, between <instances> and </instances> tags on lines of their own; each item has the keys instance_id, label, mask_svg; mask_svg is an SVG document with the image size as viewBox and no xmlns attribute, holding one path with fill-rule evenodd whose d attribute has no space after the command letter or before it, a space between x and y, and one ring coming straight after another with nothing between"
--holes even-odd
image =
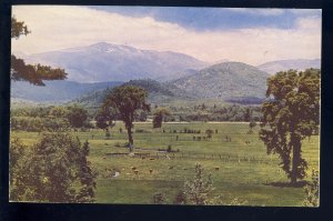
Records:
<instances>
[{"instance_id":1,"label":"entire hazy mountain range, from blue foothills to snow-flecked peak","mask_svg":"<svg viewBox=\"0 0 333 221\"><path fill-rule=\"evenodd\" d=\"M172 51L140 50L129 46L95 43L31 56L27 63L64 68L69 79L46 87L12 82L11 98L37 102L100 102L107 88L130 83L149 90L153 102L172 99L236 100L264 98L269 73L320 68L321 60L282 60L253 67L226 59L210 66ZM134 80L134 81L133 81Z\"/></svg>"}]
</instances>

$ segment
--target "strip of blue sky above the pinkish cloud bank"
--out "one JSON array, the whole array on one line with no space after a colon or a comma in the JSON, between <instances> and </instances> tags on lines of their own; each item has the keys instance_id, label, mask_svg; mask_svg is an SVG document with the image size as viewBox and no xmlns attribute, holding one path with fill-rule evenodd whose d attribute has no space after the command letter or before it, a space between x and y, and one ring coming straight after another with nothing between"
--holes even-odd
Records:
<instances>
[{"instance_id":1,"label":"strip of blue sky above the pinkish cloud bank","mask_svg":"<svg viewBox=\"0 0 333 221\"><path fill-rule=\"evenodd\" d=\"M152 17L157 21L178 23L186 29L230 30L244 28L293 29L299 18L321 18L321 10L241 9L193 7L90 7L129 17Z\"/></svg>"}]
</instances>

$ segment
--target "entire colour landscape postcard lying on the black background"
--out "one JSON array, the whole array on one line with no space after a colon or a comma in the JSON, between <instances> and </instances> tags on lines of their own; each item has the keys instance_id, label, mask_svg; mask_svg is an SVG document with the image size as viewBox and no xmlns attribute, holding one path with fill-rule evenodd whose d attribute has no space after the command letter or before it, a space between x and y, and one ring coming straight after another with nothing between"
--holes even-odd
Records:
<instances>
[{"instance_id":1,"label":"entire colour landscape postcard lying on the black background","mask_svg":"<svg viewBox=\"0 0 333 221\"><path fill-rule=\"evenodd\" d=\"M300 12L13 6L9 201L319 207L322 12Z\"/></svg>"}]
</instances>

